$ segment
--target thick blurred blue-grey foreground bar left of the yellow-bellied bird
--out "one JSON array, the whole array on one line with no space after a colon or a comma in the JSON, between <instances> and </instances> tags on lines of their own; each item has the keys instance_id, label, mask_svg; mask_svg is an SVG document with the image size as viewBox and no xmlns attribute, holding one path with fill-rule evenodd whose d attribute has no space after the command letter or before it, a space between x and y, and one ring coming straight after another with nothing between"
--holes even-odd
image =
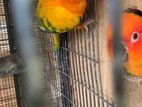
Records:
<instances>
[{"instance_id":1,"label":"thick blurred blue-grey foreground bar left of the yellow-bellied bird","mask_svg":"<svg viewBox=\"0 0 142 107\"><path fill-rule=\"evenodd\" d=\"M39 107L42 104L41 95L41 59L36 54L36 49L33 46L32 33L32 16L31 7L32 0L12 0L12 10L14 24L16 28L16 40L22 55L24 64L27 68L26 85L27 94L25 106ZM24 19L24 20L23 20ZM44 106L43 104L41 106Z\"/></svg>"}]
</instances>

